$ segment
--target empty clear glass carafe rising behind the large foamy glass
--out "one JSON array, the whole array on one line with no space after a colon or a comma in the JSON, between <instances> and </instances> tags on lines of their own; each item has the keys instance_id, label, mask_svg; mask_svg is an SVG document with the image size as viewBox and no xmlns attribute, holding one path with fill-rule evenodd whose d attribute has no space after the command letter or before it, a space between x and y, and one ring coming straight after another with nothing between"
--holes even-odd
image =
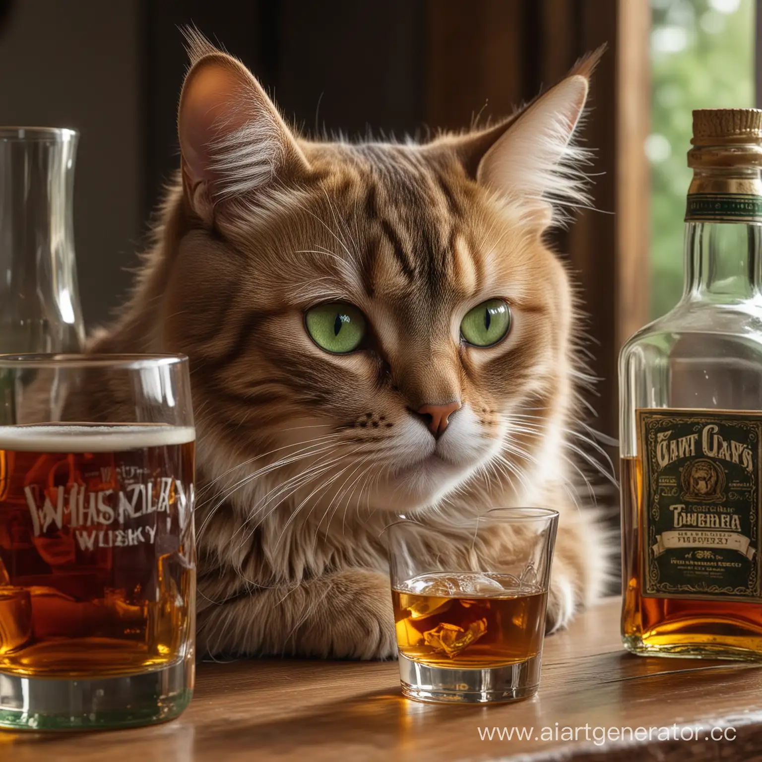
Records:
<instances>
[{"instance_id":1,"label":"empty clear glass carafe rising behind the large foamy glass","mask_svg":"<svg viewBox=\"0 0 762 762\"><path fill-rule=\"evenodd\" d=\"M78 133L0 127L0 352L77 352L85 338L72 195Z\"/></svg>"}]
</instances>

